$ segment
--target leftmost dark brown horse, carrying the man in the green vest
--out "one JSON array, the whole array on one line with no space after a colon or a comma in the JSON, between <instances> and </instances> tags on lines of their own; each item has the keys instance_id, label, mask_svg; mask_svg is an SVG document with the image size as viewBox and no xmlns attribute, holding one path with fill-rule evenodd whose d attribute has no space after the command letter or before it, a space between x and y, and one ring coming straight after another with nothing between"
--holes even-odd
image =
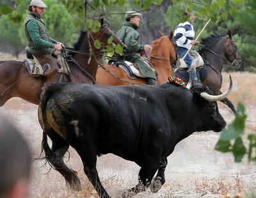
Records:
<instances>
[{"instance_id":1,"label":"leftmost dark brown horse, carrying the man in the green vest","mask_svg":"<svg viewBox=\"0 0 256 198\"><path fill-rule=\"evenodd\" d=\"M53 72L49 75L47 73L46 77L31 77L23 61L0 61L0 107L12 97L20 97L28 102L39 104L40 93L46 82L51 84L71 81L94 84L99 65L97 59L100 57L101 50L94 47L94 40L102 42L102 48L104 48L108 45L108 38L113 36L113 43L120 43L125 49L124 43L120 42L109 28L109 23L103 18L100 18L99 22L101 27L97 33L93 33L92 30L81 32L74 46L72 59L68 61L69 79L62 73L56 72L56 68L52 68ZM93 57L93 54L97 56L97 59ZM50 82L47 77L51 79Z\"/></svg>"}]
</instances>

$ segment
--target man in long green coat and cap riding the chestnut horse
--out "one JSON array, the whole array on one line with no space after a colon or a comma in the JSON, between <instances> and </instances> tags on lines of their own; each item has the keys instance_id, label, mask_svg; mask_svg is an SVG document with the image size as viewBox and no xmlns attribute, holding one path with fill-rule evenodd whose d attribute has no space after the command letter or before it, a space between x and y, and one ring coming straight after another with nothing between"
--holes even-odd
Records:
<instances>
[{"instance_id":1,"label":"man in long green coat and cap riding the chestnut horse","mask_svg":"<svg viewBox=\"0 0 256 198\"><path fill-rule=\"evenodd\" d=\"M140 56L141 52L152 50L150 45L141 45L140 43L140 34L136 31L140 25L140 16L141 14L136 11L127 11L125 13L126 22L124 22L116 36L127 46L123 60L138 66L140 73L147 77L148 84L157 85L154 69L145 63Z\"/></svg>"}]
</instances>

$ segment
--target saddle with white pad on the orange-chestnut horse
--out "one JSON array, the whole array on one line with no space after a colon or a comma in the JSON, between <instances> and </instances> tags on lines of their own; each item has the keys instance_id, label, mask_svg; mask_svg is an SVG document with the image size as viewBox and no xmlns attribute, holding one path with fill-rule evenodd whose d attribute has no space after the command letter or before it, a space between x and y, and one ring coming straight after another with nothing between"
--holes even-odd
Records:
<instances>
[{"instance_id":1,"label":"saddle with white pad on the orange-chestnut horse","mask_svg":"<svg viewBox=\"0 0 256 198\"><path fill-rule=\"evenodd\" d=\"M133 64L129 61L116 61L116 62L111 63L111 65L118 66L119 68L124 70L124 72L127 73L129 79L136 79L136 77L141 77L144 79L147 78L140 73L140 70L138 69L138 67L135 64Z\"/></svg>"}]
</instances>

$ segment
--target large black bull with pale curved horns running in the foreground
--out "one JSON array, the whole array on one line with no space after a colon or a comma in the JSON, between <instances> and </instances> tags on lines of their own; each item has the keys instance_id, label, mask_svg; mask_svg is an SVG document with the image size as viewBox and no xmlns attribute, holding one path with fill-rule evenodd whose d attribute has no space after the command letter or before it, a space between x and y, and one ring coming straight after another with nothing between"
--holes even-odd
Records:
<instances>
[{"instance_id":1,"label":"large black bull with pale curved horns running in the foreground","mask_svg":"<svg viewBox=\"0 0 256 198\"><path fill-rule=\"evenodd\" d=\"M141 167L138 185L125 191L124 197L149 186L152 192L157 192L165 182L167 156L178 142L193 132L220 132L226 126L215 101L226 97L231 88L230 78L230 89L222 98L208 98L211 93L202 85L186 89L170 83L162 86L52 84L42 94L38 109L44 129L42 149L51 165L75 190L81 189L79 178L63 162L68 146L81 156L84 172L100 197L109 197L96 169L97 155L106 153ZM52 148L48 146L47 135L52 139Z\"/></svg>"}]
</instances>

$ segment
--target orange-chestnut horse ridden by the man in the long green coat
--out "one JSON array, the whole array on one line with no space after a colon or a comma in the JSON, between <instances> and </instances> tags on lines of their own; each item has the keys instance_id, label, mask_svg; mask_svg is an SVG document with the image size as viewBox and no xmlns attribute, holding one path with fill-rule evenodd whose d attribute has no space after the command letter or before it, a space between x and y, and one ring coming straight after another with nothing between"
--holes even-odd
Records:
<instances>
[{"instance_id":1,"label":"orange-chestnut horse ridden by the man in the long green coat","mask_svg":"<svg viewBox=\"0 0 256 198\"><path fill-rule=\"evenodd\" d=\"M172 67L170 66L170 63L176 60L172 31L170 31L169 36L163 36L163 34L161 34L161 38L153 42L152 50L148 59L158 73L157 84L161 85L166 82L170 76L170 73L172 73ZM147 84L147 80L144 78L138 77L136 79L129 79L124 70L116 66L104 65L102 67L103 68L98 69L96 75L97 84L110 86L131 85L138 83ZM111 72L112 75L111 73L106 72L104 68L108 70L108 72Z\"/></svg>"}]
</instances>

